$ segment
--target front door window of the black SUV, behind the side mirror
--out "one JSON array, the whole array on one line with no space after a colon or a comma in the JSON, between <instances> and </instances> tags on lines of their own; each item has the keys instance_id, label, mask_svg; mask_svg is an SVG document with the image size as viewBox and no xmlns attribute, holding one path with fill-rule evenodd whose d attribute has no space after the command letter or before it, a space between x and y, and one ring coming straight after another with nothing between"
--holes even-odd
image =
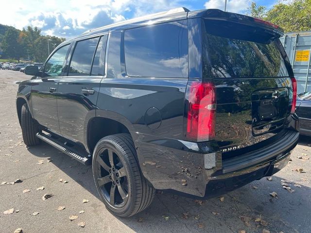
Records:
<instances>
[{"instance_id":1,"label":"front door window of the black SUV, behind the side mirror","mask_svg":"<svg viewBox=\"0 0 311 233\"><path fill-rule=\"evenodd\" d=\"M55 77L61 75L68 49L69 45L65 45L54 52L52 57L50 57L44 66L45 77Z\"/></svg>"}]
</instances>

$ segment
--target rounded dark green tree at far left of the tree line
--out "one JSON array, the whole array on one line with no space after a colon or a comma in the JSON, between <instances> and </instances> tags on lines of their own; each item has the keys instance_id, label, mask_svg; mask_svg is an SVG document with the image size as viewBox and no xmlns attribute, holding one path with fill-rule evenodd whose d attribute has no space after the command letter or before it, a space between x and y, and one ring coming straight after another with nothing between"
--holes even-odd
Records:
<instances>
[{"instance_id":1,"label":"rounded dark green tree at far left of the tree line","mask_svg":"<svg viewBox=\"0 0 311 233\"><path fill-rule=\"evenodd\" d=\"M9 58L20 60L24 55L24 48L20 41L19 31L14 28L9 28L3 37L1 47L4 54Z\"/></svg>"}]
</instances>

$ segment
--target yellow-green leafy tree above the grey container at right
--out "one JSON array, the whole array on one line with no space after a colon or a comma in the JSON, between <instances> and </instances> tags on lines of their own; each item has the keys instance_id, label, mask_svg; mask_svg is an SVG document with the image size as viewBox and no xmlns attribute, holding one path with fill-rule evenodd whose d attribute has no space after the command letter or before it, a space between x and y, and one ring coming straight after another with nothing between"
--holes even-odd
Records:
<instances>
[{"instance_id":1,"label":"yellow-green leafy tree above the grey container at right","mask_svg":"<svg viewBox=\"0 0 311 233\"><path fill-rule=\"evenodd\" d=\"M311 0L280 1L267 11L265 20L279 25L285 32L311 30Z\"/></svg>"}]
</instances>

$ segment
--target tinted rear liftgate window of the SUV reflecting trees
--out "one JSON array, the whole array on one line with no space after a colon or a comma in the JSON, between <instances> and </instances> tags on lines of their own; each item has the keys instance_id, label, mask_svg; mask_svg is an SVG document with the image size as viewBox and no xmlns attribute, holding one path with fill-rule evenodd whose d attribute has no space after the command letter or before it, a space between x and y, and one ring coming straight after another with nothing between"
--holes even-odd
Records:
<instances>
[{"instance_id":1,"label":"tinted rear liftgate window of the SUV reflecting trees","mask_svg":"<svg viewBox=\"0 0 311 233\"><path fill-rule=\"evenodd\" d=\"M205 20L204 77L288 77L277 44L260 29ZM230 25L231 24L231 25Z\"/></svg>"}]
</instances>

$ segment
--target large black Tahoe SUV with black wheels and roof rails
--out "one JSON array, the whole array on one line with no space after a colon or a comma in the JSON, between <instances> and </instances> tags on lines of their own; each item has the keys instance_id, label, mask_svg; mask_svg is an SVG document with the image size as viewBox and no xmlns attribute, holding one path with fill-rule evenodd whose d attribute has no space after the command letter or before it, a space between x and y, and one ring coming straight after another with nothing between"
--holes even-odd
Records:
<instances>
[{"instance_id":1,"label":"large black Tahoe SUV with black wheels and roof rails","mask_svg":"<svg viewBox=\"0 0 311 233\"><path fill-rule=\"evenodd\" d=\"M92 164L107 208L155 189L207 199L271 176L297 144L296 81L269 22L185 8L65 41L19 84L26 145Z\"/></svg>"}]
</instances>

